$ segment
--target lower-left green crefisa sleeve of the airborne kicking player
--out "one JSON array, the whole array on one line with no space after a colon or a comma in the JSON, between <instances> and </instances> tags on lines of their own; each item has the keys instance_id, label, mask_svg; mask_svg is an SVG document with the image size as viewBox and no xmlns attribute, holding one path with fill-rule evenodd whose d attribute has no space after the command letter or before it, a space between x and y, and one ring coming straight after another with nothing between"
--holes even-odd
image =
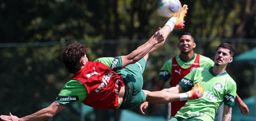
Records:
<instances>
[{"instance_id":1,"label":"lower-left green crefisa sleeve of the airborne kicking player","mask_svg":"<svg viewBox=\"0 0 256 121\"><path fill-rule=\"evenodd\" d=\"M54 102L67 106L75 101L83 102L88 95L84 84L78 80L69 80L60 90L59 96Z\"/></svg>"}]
</instances>

